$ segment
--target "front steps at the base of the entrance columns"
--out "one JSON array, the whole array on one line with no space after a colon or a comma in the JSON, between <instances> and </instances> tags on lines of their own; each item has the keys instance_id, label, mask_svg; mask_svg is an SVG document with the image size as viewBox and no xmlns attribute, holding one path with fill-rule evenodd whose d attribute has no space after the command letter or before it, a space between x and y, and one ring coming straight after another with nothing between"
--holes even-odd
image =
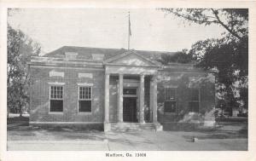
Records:
<instances>
[{"instance_id":1,"label":"front steps at the base of the entrance columns","mask_svg":"<svg viewBox=\"0 0 256 161\"><path fill-rule=\"evenodd\" d=\"M112 131L138 131L138 130L155 130L153 123L112 123L110 124Z\"/></svg>"}]
</instances>

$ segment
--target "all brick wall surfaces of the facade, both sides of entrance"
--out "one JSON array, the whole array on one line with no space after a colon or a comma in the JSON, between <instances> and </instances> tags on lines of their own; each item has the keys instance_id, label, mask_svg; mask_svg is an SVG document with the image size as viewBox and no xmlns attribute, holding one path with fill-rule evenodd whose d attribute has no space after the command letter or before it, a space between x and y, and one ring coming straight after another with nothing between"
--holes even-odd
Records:
<instances>
[{"instance_id":1,"label":"all brick wall surfaces of the facade, both sides of entrance","mask_svg":"<svg viewBox=\"0 0 256 161\"><path fill-rule=\"evenodd\" d=\"M158 120L165 122L186 122L189 113L189 88L199 88L201 108L197 120L212 119L215 105L214 78L206 72L183 72L175 69L163 70L158 76ZM64 72L64 77L49 77L49 72ZM92 78L79 78L79 73L92 73ZM31 118L32 122L103 122L104 120L104 71L85 68L31 67ZM109 121L117 121L117 79L110 77ZM149 106L149 79L145 78L145 106ZM49 113L49 83L64 85L63 113ZM92 112L78 112L78 83L93 83ZM164 88L177 87L177 112L164 112ZM145 119L149 113L145 111Z\"/></svg>"}]
</instances>

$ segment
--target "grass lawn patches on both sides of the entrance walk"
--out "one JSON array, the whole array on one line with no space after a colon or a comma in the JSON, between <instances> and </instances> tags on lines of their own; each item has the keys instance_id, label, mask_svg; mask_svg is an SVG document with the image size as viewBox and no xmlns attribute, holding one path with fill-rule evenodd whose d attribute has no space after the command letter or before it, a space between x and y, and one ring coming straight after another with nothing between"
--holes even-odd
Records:
<instances>
[{"instance_id":1,"label":"grass lawn patches on both sides of the entrance walk","mask_svg":"<svg viewBox=\"0 0 256 161\"><path fill-rule=\"evenodd\" d=\"M29 118L10 115L8 123L8 141L62 141L62 140L93 140L106 139L103 131L95 129L78 129L63 127L32 127L28 126ZM247 138L247 123L224 123L214 128L201 128L191 131L170 131L184 139L236 139Z\"/></svg>"}]
</instances>

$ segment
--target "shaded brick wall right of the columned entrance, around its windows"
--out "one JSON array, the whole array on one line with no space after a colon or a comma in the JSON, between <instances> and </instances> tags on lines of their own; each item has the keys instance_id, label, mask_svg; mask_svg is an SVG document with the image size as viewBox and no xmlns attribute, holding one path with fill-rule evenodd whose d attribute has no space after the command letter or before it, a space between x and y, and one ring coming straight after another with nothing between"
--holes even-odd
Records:
<instances>
[{"instance_id":1,"label":"shaded brick wall right of the columned entrance, around its windows","mask_svg":"<svg viewBox=\"0 0 256 161\"><path fill-rule=\"evenodd\" d=\"M177 88L176 112L165 112L165 87ZM199 113L189 112L189 88L200 89ZM214 77L206 72L161 71L158 76L158 120L165 122L203 122L212 120L215 106ZM192 115L191 115L192 114Z\"/></svg>"}]
</instances>

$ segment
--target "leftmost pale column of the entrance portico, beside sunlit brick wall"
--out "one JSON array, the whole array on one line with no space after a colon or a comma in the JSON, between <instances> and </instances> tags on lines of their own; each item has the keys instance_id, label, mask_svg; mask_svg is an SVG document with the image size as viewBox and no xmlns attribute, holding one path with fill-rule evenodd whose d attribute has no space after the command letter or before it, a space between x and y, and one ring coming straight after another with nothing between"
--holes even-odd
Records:
<instances>
[{"instance_id":1,"label":"leftmost pale column of the entrance portico, beside sunlit brick wall","mask_svg":"<svg viewBox=\"0 0 256 161\"><path fill-rule=\"evenodd\" d=\"M105 74L105 123L109 123L109 74Z\"/></svg>"}]
</instances>

